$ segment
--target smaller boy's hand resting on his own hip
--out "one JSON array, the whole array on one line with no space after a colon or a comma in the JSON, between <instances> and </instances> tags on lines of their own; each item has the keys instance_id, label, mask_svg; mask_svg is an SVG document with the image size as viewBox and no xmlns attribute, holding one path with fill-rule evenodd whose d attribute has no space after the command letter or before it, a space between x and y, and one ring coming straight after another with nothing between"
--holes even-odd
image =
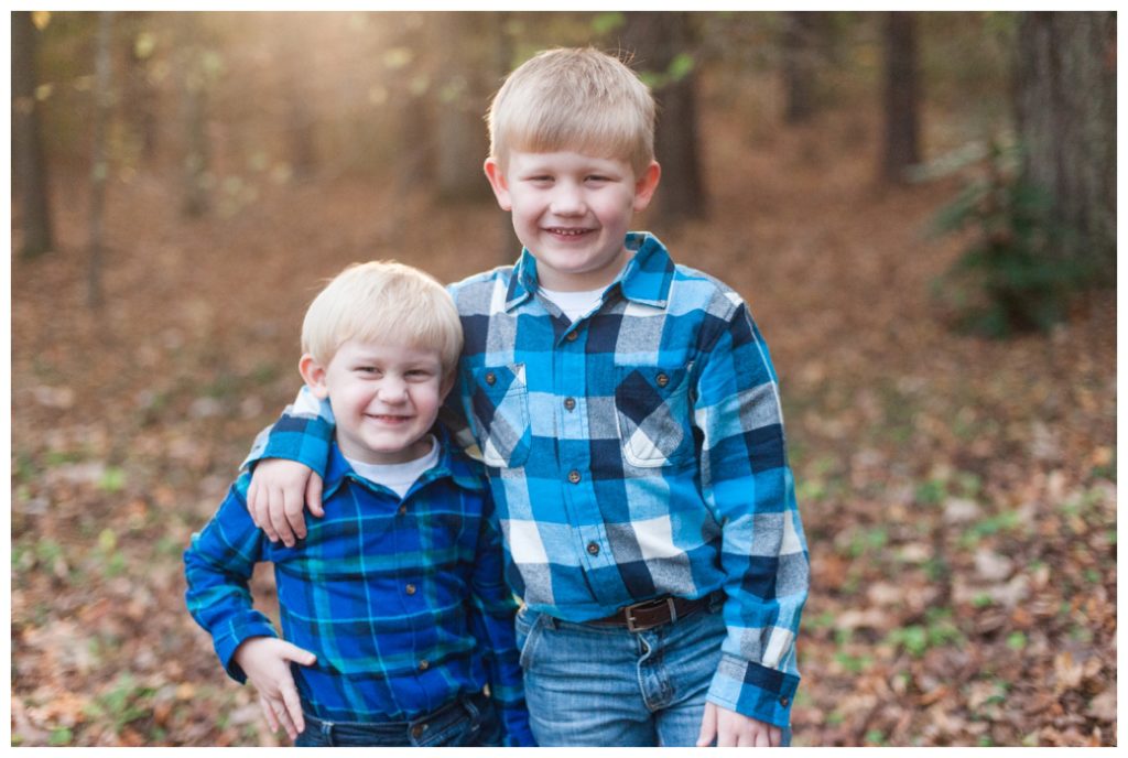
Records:
<instances>
[{"instance_id":1,"label":"smaller boy's hand resting on his own hip","mask_svg":"<svg viewBox=\"0 0 1128 758\"><path fill-rule=\"evenodd\" d=\"M301 715L290 661L310 666L317 656L284 640L250 637L236 649L233 660L258 690L258 704L271 731L279 731L281 723L291 740L298 739L306 731L306 719Z\"/></svg>"}]
</instances>

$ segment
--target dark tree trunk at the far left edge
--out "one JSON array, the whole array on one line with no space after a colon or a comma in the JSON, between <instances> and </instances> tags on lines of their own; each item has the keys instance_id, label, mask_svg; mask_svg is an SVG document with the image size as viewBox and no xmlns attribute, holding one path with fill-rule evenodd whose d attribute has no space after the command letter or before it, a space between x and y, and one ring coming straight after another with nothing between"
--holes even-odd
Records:
<instances>
[{"instance_id":1,"label":"dark tree trunk at the far left edge","mask_svg":"<svg viewBox=\"0 0 1128 758\"><path fill-rule=\"evenodd\" d=\"M11 14L11 178L19 201L20 255L32 258L53 246L51 206L47 201L47 166L39 133L39 106L35 99L36 30L32 14Z\"/></svg>"}]
</instances>

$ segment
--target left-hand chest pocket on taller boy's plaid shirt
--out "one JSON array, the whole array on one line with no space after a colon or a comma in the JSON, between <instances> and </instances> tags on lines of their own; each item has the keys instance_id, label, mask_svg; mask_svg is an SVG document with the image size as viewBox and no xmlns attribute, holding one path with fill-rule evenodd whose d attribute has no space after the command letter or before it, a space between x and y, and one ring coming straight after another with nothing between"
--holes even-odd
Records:
<instances>
[{"instance_id":1,"label":"left-hand chest pocket on taller boy's plaid shirt","mask_svg":"<svg viewBox=\"0 0 1128 758\"><path fill-rule=\"evenodd\" d=\"M532 443L525 364L475 369L472 381L470 411L483 462L496 468L525 466Z\"/></svg>"}]
</instances>

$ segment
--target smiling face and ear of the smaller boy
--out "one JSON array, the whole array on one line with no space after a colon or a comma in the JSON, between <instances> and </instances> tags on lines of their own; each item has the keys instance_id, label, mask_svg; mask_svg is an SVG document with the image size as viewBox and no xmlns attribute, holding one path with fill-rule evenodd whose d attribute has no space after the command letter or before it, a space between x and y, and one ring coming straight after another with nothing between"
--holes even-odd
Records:
<instances>
[{"instance_id":1,"label":"smiling face and ear of the smaller boy","mask_svg":"<svg viewBox=\"0 0 1128 758\"><path fill-rule=\"evenodd\" d=\"M438 351L349 340L327 367L307 353L299 369L315 396L329 398L346 458L403 464L430 452L426 433L451 385Z\"/></svg>"}]
</instances>

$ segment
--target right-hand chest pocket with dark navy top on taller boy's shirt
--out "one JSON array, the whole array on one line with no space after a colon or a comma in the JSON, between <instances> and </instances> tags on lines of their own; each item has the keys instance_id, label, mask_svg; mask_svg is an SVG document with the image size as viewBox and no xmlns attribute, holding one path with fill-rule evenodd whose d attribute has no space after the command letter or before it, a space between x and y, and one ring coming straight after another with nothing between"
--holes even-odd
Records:
<instances>
[{"instance_id":1,"label":"right-hand chest pocket with dark navy top on taller boy's shirt","mask_svg":"<svg viewBox=\"0 0 1128 758\"><path fill-rule=\"evenodd\" d=\"M623 457L637 468L693 459L689 367L617 367L615 412Z\"/></svg>"}]
</instances>

